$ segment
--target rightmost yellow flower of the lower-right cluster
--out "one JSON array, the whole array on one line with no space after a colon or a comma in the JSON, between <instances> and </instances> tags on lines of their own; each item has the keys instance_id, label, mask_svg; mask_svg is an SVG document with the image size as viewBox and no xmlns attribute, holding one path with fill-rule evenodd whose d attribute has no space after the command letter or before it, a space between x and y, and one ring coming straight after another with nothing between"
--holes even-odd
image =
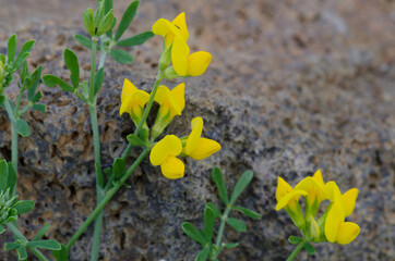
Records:
<instances>
[{"instance_id":1,"label":"rightmost yellow flower of the lower-right cluster","mask_svg":"<svg viewBox=\"0 0 395 261\"><path fill-rule=\"evenodd\" d=\"M345 222L345 219L354 211L358 197L358 189L351 188L344 195L334 182L325 185L332 206L325 220L325 237L331 243L346 245L358 236L360 227L352 222Z\"/></svg>"}]
</instances>

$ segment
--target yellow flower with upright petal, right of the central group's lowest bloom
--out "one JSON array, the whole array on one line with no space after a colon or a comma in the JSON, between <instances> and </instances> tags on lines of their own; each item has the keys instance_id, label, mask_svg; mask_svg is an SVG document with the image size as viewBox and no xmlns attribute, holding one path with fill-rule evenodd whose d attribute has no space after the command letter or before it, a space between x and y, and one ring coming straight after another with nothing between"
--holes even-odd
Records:
<instances>
[{"instance_id":1,"label":"yellow flower with upright petal, right of the central group's lowest bloom","mask_svg":"<svg viewBox=\"0 0 395 261\"><path fill-rule=\"evenodd\" d=\"M187 139L182 152L194 160L203 160L220 150L220 145L212 139L202 138L203 119L195 117L191 121L192 132Z\"/></svg>"}]
</instances>

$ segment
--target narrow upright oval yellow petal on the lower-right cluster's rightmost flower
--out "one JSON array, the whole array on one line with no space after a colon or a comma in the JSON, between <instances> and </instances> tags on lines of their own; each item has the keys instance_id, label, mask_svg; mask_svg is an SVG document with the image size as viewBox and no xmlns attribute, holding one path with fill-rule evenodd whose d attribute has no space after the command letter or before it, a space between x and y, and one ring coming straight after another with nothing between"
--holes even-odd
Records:
<instances>
[{"instance_id":1,"label":"narrow upright oval yellow petal on the lower-right cluster's rightmost flower","mask_svg":"<svg viewBox=\"0 0 395 261\"><path fill-rule=\"evenodd\" d=\"M325 220L325 237L330 243L334 243L338 235L340 224L344 222L344 211L338 202L333 203Z\"/></svg>"}]
</instances>

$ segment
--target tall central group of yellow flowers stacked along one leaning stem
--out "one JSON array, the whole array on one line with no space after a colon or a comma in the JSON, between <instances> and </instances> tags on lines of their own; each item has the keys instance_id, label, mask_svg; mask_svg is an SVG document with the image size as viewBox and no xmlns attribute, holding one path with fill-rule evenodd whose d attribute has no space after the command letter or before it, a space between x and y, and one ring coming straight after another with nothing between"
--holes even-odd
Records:
<instances>
[{"instance_id":1,"label":"tall central group of yellow flowers stacked along one leaning stem","mask_svg":"<svg viewBox=\"0 0 395 261\"><path fill-rule=\"evenodd\" d=\"M153 25L153 33L165 37L157 80L199 76L206 71L212 55L205 51L190 54L187 45L189 33L184 13L179 14L172 22L159 18ZM120 114L128 112L136 126L141 121L144 121L142 129L146 130L145 133L149 133L149 127L143 119L144 107L151 99L159 104L155 123L151 128L152 150L149 160L153 165L160 165L164 176L170 179L180 178L184 175L184 164L177 157L191 157L194 160L202 160L222 148L217 141L201 137L203 119L200 116L192 120L192 130L189 136L180 139L175 135L166 135L161 140L153 144L173 117L181 115L185 107L184 88L184 83L172 89L159 85L149 95L137 89L130 80L124 79L121 95Z\"/></svg>"}]
</instances>

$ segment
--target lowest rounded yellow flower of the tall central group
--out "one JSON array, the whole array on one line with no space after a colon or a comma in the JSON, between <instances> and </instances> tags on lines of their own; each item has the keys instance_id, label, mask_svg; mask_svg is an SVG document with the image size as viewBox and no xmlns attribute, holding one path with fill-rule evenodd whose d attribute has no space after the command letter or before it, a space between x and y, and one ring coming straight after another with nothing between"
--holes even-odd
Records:
<instances>
[{"instance_id":1,"label":"lowest rounded yellow flower of the tall central group","mask_svg":"<svg viewBox=\"0 0 395 261\"><path fill-rule=\"evenodd\" d=\"M151 150L149 161L153 165L160 165L165 177L175 179L183 177L184 165L177 159L182 151L181 140L175 135L166 135Z\"/></svg>"}]
</instances>

